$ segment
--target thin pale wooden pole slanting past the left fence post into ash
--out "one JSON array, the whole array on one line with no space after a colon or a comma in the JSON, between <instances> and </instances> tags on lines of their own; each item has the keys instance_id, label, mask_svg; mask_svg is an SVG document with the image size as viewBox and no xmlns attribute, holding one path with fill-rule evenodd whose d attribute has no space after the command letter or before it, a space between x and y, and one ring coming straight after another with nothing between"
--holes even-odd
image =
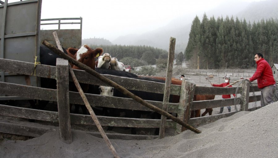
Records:
<instances>
[{"instance_id":1,"label":"thin pale wooden pole slanting past the left fence post into ash","mask_svg":"<svg viewBox=\"0 0 278 158\"><path fill-rule=\"evenodd\" d=\"M56 32L53 32L53 36L56 40L56 43L57 43L57 46L59 48L59 50L63 51L62 47L61 47L61 44L60 44L60 41L59 41L59 38L57 36L57 33ZM99 129L99 133L101 134L102 138L104 139L104 141L106 142L107 146L109 147L109 149L111 150L112 154L114 155L115 158L120 158L120 156L117 154L115 148L112 146L110 140L108 139L107 135L105 134L103 128L101 127L100 123L99 123L99 120L98 118L96 117L95 115L95 112L93 111L92 107L90 106L90 103L88 102L81 86L79 85L78 81L77 81L77 78L75 77L75 74L72 70L72 68L70 67L70 64L69 64L69 72L70 72L70 75L74 81L74 84L79 92L79 94L81 95L81 98L83 99L85 105L86 105L86 108L88 109L93 121L95 122L95 125L97 126L97 128Z\"/></svg>"}]
</instances>

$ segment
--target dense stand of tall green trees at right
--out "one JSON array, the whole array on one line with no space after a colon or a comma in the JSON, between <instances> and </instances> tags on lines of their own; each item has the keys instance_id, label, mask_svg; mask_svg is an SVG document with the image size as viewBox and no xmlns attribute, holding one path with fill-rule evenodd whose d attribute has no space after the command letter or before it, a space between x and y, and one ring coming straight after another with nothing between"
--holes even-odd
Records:
<instances>
[{"instance_id":1,"label":"dense stand of tall green trees at right","mask_svg":"<svg viewBox=\"0 0 278 158\"><path fill-rule=\"evenodd\" d=\"M184 52L191 68L221 69L250 68L254 56L262 53L270 65L278 63L278 22L261 20L247 23L228 16L208 19L203 15L192 22Z\"/></svg>"}]
</instances>

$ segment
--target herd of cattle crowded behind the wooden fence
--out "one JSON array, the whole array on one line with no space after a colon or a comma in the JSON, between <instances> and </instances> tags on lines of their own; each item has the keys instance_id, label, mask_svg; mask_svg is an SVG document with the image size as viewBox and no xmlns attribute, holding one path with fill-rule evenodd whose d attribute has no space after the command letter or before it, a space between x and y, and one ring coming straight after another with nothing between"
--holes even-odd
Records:
<instances>
[{"instance_id":1,"label":"herd of cattle crowded behind the wooden fence","mask_svg":"<svg viewBox=\"0 0 278 158\"><path fill-rule=\"evenodd\" d=\"M124 64L119 62L117 58L112 58L110 54L103 53L103 49L97 48L95 50L91 49L87 45L83 45L80 49L75 48L68 48L67 50L63 49L64 52L69 55L70 57L78 60L79 62L89 66L90 68L94 69L96 72L100 74L108 74L120 77L129 77L139 80L146 80L146 81L154 81L159 83L165 83L165 77L154 77L154 76L137 76L131 73L130 69L125 69ZM95 58L97 58L95 61ZM46 46L40 46L40 63L44 65L51 65L56 66L56 58L60 58L60 56L56 55L53 51L48 49ZM75 65L70 64L73 69L80 69ZM179 79L172 78L171 84L173 85L181 85L182 81ZM96 85L89 85L89 84L80 84L82 90L85 93L91 94L100 94L106 96L115 96L115 97L126 97L124 94L119 92L118 90L112 87L106 86L96 86ZM41 87L48 88L48 89L56 89L56 80L43 78L41 77ZM69 85L70 91L77 91L73 83ZM151 92L143 92L137 90L130 90L133 94L139 96L144 100L152 100L152 101L163 101L163 94L151 93ZM210 100L214 99L214 95L195 95L194 101L197 100ZM29 101L31 106L36 109L43 110L47 105L48 101L40 100L38 104L35 104L33 100ZM179 96L171 95L169 99L170 103L179 103ZM74 105L74 113L79 112L79 108L82 108L83 114L87 114L86 107L84 105ZM71 109L71 108L70 108ZM112 116L112 117L129 117L129 118L141 118L143 115L151 116L152 119L160 119L160 115L156 112L142 112L136 110L126 110L126 109L115 109L115 108L104 108L101 107L101 112L96 113L97 115L103 116ZM70 110L71 111L71 110ZM72 111L71 111L72 112ZM206 113L211 115L212 109L206 109L206 112L202 114L204 116ZM192 117L200 117L200 110L192 111ZM112 127L109 127L108 130L112 130ZM156 129L155 134L159 133L159 129ZM131 134L136 134L136 129L131 128Z\"/></svg>"}]
</instances>

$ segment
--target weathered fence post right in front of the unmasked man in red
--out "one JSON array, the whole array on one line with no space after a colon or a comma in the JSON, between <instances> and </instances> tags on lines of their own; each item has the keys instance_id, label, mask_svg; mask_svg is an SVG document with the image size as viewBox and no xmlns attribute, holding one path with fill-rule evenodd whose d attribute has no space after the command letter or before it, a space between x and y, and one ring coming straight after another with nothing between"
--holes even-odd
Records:
<instances>
[{"instance_id":1,"label":"weathered fence post right in front of the unmasked man in red","mask_svg":"<svg viewBox=\"0 0 278 158\"><path fill-rule=\"evenodd\" d=\"M241 103L240 103L240 111L248 111L248 103L249 103L249 89L250 83L249 81L242 81L242 90L241 90Z\"/></svg>"}]
</instances>

